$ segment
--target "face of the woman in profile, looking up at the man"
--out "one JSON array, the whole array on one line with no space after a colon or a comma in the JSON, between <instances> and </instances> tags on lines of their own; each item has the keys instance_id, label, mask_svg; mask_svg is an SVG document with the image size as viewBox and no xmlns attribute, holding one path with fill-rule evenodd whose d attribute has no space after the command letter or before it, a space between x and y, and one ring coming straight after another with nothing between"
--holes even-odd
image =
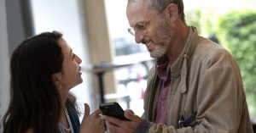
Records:
<instances>
[{"instance_id":1,"label":"face of the woman in profile, looking up at the man","mask_svg":"<svg viewBox=\"0 0 256 133\"><path fill-rule=\"evenodd\" d=\"M57 75L59 83L61 83L61 89L69 90L83 82L81 78L82 73L80 72L81 67L79 66L82 60L73 53L73 50L64 39L61 38L58 42L63 55L63 63L61 72L57 73Z\"/></svg>"}]
</instances>

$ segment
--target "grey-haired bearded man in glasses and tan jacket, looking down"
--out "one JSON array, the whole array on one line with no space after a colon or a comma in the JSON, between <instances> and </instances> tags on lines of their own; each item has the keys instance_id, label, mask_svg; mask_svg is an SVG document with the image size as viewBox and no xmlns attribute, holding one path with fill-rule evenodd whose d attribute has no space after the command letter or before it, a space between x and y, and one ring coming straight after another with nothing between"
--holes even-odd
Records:
<instances>
[{"instance_id":1,"label":"grey-haired bearded man in glasses and tan jacket, looking down","mask_svg":"<svg viewBox=\"0 0 256 133\"><path fill-rule=\"evenodd\" d=\"M251 133L236 60L186 25L182 0L128 0L129 32L148 48L144 114L103 116L112 133Z\"/></svg>"}]
</instances>

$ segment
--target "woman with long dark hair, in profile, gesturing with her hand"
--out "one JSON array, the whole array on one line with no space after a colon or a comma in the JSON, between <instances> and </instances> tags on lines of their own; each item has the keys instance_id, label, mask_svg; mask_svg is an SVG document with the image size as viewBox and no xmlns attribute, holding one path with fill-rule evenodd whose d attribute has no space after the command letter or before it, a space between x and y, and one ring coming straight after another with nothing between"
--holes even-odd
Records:
<instances>
[{"instance_id":1,"label":"woman with long dark hair, in profile, gesturing with her hand","mask_svg":"<svg viewBox=\"0 0 256 133\"><path fill-rule=\"evenodd\" d=\"M57 31L22 42L10 60L11 97L3 133L103 132L101 112L90 114L87 104L79 123L76 97L69 90L83 81L81 62Z\"/></svg>"}]
</instances>

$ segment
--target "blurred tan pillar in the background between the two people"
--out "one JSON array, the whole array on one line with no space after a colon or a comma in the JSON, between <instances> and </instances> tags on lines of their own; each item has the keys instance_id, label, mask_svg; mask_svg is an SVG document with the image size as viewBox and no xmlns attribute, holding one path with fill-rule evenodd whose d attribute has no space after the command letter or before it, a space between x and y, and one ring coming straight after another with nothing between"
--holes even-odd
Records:
<instances>
[{"instance_id":1,"label":"blurred tan pillar in the background between the two people","mask_svg":"<svg viewBox=\"0 0 256 133\"><path fill-rule=\"evenodd\" d=\"M91 64L109 63L113 61L113 47L108 34L108 21L104 0L87 0L80 2L83 28L87 33ZM94 76L94 86L98 94L98 80ZM105 93L115 91L113 71L103 75Z\"/></svg>"}]
</instances>

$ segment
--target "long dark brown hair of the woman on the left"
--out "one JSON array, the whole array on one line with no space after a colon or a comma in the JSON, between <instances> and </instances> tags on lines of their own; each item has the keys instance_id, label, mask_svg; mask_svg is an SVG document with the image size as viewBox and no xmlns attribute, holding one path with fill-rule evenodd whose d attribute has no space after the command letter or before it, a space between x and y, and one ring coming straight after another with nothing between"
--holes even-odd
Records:
<instances>
[{"instance_id":1,"label":"long dark brown hair of the woman on the left","mask_svg":"<svg viewBox=\"0 0 256 133\"><path fill-rule=\"evenodd\" d=\"M12 54L10 104L3 117L3 133L24 133L28 128L35 133L59 132L61 97L52 75L62 67L61 36L57 31L32 36ZM77 109L71 93L67 104Z\"/></svg>"}]
</instances>

